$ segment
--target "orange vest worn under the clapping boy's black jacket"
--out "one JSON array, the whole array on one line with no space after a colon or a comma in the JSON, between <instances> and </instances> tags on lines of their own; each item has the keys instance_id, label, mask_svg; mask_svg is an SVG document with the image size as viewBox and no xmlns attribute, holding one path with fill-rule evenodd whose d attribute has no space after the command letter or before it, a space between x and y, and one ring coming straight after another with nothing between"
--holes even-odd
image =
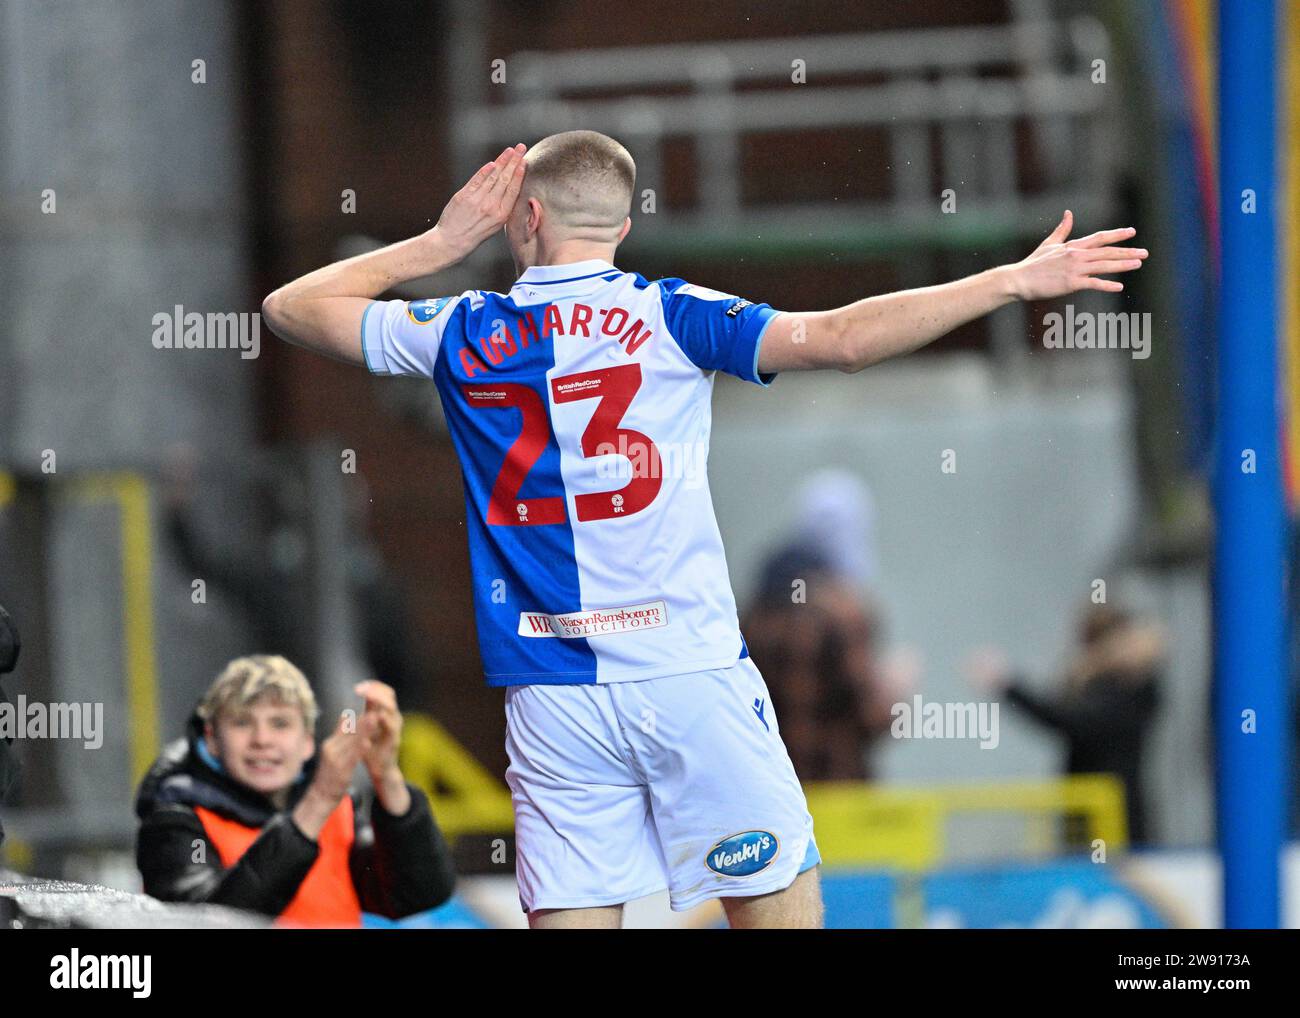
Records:
<instances>
[{"instance_id":1,"label":"orange vest worn under the clapping boy's black jacket","mask_svg":"<svg viewBox=\"0 0 1300 1018\"><path fill-rule=\"evenodd\" d=\"M247 827L203 806L195 806L194 811L226 868L234 866L261 833L260 827ZM298 885L292 901L280 913L283 926L361 924L361 901L348 868L356 837L354 823L352 798L343 796L316 839L320 846L316 862Z\"/></svg>"}]
</instances>

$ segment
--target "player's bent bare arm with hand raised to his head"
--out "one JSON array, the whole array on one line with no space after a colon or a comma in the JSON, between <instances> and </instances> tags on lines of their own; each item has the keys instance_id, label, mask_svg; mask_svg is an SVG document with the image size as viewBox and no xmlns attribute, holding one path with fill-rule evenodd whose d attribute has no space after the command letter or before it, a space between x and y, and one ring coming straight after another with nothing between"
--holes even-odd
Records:
<instances>
[{"instance_id":1,"label":"player's bent bare arm with hand raised to his head","mask_svg":"<svg viewBox=\"0 0 1300 1018\"><path fill-rule=\"evenodd\" d=\"M506 222L523 183L524 146L516 144L456 191L432 230L335 261L281 286L263 300L263 319L290 343L364 364L361 317L370 302L398 283L432 276L468 257Z\"/></svg>"}]
</instances>

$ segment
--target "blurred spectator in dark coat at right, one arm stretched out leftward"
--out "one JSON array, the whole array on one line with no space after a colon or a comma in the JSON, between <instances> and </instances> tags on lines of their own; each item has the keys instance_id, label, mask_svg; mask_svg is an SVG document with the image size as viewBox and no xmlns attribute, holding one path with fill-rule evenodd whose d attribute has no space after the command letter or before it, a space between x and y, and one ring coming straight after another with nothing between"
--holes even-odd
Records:
<instances>
[{"instance_id":1,"label":"blurred spectator in dark coat at right, one arm stretched out leftward","mask_svg":"<svg viewBox=\"0 0 1300 1018\"><path fill-rule=\"evenodd\" d=\"M1160 706L1165 640L1158 628L1109 605L1089 605L1079 620L1078 649L1060 689L1043 694L1013 675L1001 650L967 660L971 680L1002 696L1040 724L1062 735L1066 774L1113 774L1123 783L1128 840L1153 841L1148 822L1143 751ZM1083 844L1074 827L1071 845Z\"/></svg>"}]
</instances>

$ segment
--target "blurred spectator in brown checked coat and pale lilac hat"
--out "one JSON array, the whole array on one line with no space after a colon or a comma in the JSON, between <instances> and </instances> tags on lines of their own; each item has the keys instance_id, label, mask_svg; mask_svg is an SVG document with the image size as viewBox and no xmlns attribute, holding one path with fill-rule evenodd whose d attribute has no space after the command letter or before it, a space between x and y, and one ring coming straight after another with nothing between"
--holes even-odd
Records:
<instances>
[{"instance_id":1,"label":"blurred spectator in brown checked coat and pale lilac hat","mask_svg":"<svg viewBox=\"0 0 1300 1018\"><path fill-rule=\"evenodd\" d=\"M898 699L878 663L872 503L844 471L814 475L794 536L762 568L742 631L802 781L867 780Z\"/></svg>"}]
</instances>

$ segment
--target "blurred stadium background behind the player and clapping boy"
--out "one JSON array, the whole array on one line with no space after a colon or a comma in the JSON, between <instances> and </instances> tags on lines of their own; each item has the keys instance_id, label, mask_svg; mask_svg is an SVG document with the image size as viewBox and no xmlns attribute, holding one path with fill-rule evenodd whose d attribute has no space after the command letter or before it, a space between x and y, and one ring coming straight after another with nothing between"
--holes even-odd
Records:
<instances>
[{"instance_id":1,"label":"blurred stadium background behind the player and clapping boy","mask_svg":"<svg viewBox=\"0 0 1300 1018\"><path fill-rule=\"evenodd\" d=\"M502 693L433 387L269 330L256 356L159 348L155 317L251 315L432 226L504 144L589 127L637 160L620 268L779 309L1018 260L1063 208L1080 233L1138 228L1152 257L1124 293L1070 303L1149 315L1149 356L1046 348L1057 302L853 377L720 377L708 476L827 872L861 876L828 884L832 922L1069 924L1101 902L1213 923L1213 9L0 5L0 603L23 636L3 685L105 719L95 750L8 748L5 865L136 887L139 777L229 659L281 653L329 707L391 684L460 871L512 884ZM512 280L494 242L400 295ZM894 724L897 703L988 702L996 745ZM1071 868L1097 839L1143 849L1161 893ZM495 922L476 887L462 920Z\"/></svg>"}]
</instances>

